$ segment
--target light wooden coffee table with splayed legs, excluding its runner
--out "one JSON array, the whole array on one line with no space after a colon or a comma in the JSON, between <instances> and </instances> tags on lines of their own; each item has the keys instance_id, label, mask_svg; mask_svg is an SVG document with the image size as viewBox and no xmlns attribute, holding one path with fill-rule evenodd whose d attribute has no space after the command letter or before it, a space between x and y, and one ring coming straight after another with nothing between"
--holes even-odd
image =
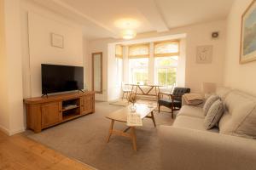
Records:
<instances>
[{"instance_id":1,"label":"light wooden coffee table with splayed legs, excluding its runner","mask_svg":"<svg viewBox=\"0 0 256 170\"><path fill-rule=\"evenodd\" d=\"M136 107L137 107L137 110L136 110L137 114L139 114L142 119L145 117L152 119L155 127L156 125L154 121L153 111L156 108L156 106L149 107L147 104L136 104ZM132 141L133 150L137 150L135 127L127 127L123 131L113 129L113 123L115 121L124 122L126 124L127 115L130 112L131 112L131 105L128 105L124 109L121 109L119 111L114 111L113 113L110 113L108 116L106 116L108 119L111 120L107 142L109 142L109 139L112 134L128 137ZM127 133L129 129L131 129L131 132Z\"/></svg>"}]
</instances>

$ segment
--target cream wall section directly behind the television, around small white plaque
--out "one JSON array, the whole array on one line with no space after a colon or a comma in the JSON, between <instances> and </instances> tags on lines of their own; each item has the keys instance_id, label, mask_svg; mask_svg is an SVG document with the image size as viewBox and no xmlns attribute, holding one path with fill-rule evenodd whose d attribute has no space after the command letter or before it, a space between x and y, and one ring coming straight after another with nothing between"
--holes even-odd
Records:
<instances>
[{"instance_id":1,"label":"cream wall section directly behind the television, around small white plaque","mask_svg":"<svg viewBox=\"0 0 256 170\"><path fill-rule=\"evenodd\" d=\"M41 64L84 65L82 27L61 15L24 1L21 11L24 96L41 93ZM64 48L51 46L51 33L63 36Z\"/></svg>"}]
</instances>

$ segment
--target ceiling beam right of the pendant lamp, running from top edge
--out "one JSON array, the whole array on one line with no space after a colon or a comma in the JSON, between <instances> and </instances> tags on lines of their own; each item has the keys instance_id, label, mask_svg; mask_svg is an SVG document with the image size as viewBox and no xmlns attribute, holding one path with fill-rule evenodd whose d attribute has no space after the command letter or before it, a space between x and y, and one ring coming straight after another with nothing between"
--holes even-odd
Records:
<instances>
[{"instance_id":1,"label":"ceiling beam right of the pendant lamp, running from top edge","mask_svg":"<svg viewBox=\"0 0 256 170\"><path fill-rule=\"evenodd\" d=\"M164 17L160 12L160 8L155 0L132 1L134 1L133 4L137 5L138 10L144 15L144 17L149 21L156 31L169 31L166 21L164 20Z\"/></svg>"}]
</instances>

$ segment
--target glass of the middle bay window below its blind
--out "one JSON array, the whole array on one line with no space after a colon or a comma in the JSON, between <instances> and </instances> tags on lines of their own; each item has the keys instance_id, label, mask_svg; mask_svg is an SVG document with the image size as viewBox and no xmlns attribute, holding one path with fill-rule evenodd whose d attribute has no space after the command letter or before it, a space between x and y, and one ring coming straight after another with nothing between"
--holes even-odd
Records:
<instances>
[{"instance_id":1,"label":"glass of the middle bay window below its blind","mask_svg":"<svg viewBox=\"0 0 256 170\"><path fill-rule=\"evenodd\" d=\"M129 59L129 74L131 83L140 83L148 81L148 58Z\"/></svg>"}]
</instances>

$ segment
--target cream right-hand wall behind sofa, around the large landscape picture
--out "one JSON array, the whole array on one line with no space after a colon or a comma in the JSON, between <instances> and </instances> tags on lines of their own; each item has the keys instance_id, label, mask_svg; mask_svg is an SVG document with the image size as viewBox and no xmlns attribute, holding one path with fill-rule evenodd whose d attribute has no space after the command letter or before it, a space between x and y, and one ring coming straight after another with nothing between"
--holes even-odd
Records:
<instances>
[{"instance_id":1,"label":"cream right-hand wall behind sofa, around the large landscape picture","mask_svg":"<svg viewBox=\"0 0 256 170\"><path fill-rule=\"evenodd\" d=\"M224 64L224 85L256 95L256 61L239 64L241 40L241 15L252 0L236 0L233 4L227 26L227 50Z\"/></svg>"}]
</instances>

